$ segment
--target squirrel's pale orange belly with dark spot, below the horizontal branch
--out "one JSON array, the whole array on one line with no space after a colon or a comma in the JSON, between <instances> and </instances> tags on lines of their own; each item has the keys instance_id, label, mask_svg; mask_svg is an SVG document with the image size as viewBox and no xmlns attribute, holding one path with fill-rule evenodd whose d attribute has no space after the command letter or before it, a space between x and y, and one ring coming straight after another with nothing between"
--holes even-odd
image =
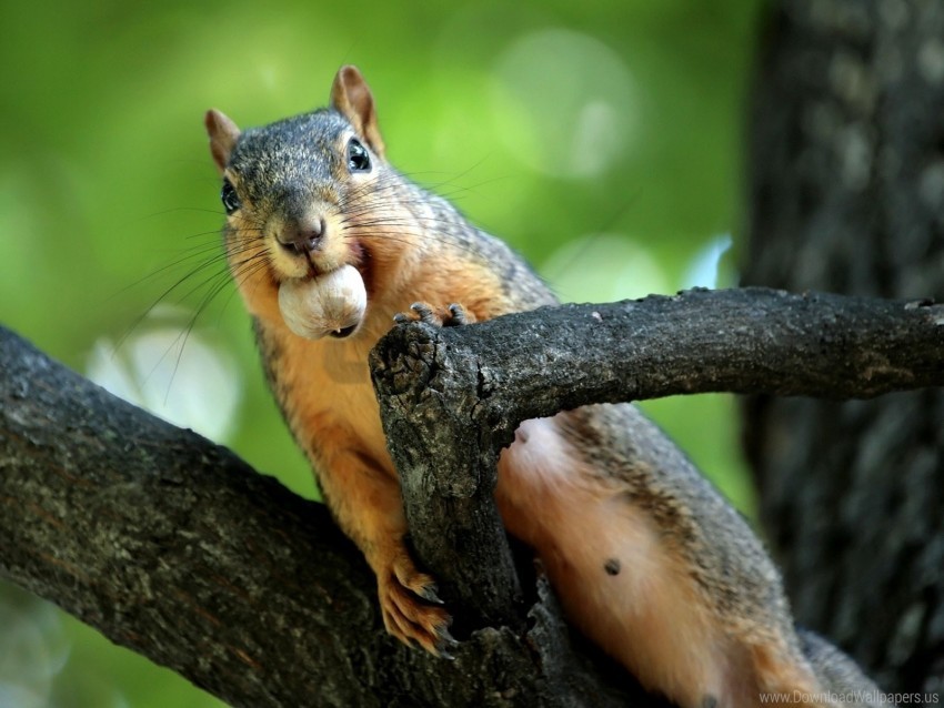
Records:
<instances>
[{"instance_id":1,"label":"squirrel's pale orange belly with dark spot, below the horizontal branch","mask_svg":"<svg viewBox=\"0 0 944 708\"><path fill-rule=\"evenodd\" d=\"M740 705L751 687L732 684L744 676L736 665L746 657L716 629L625 486L582 469L588 464L554 418L523 423L499 465L509 530L536 549L571 621L644 686L683 706L701 706L706 696ZM606 572L607 560L619 573Z\"/></svg>"}]
</instances>

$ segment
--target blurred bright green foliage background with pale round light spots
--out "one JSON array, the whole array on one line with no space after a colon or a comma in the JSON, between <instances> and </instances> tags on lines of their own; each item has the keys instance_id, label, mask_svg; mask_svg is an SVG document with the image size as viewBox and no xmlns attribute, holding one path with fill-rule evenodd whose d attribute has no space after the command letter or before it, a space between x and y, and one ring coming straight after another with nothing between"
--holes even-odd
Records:
<instances>
[{"instance_id":1,"label":"blurred bright green foliage background with pale round light spots","mask_svg":"<svg viewBox=\"0 0 944 708\"><path fill-rule=\"evenodd\" d=\"M7 0L0 323L313 496L213 260L222 210L203 112L252 125L307 111L355 63L394 164L511 241L564 300L723 286L736 281L725 249L743 219L760 10ZM732 401L645 407L750 514ZM213 705L0 586L0 707Z\"/></svg>"}]
</instances>

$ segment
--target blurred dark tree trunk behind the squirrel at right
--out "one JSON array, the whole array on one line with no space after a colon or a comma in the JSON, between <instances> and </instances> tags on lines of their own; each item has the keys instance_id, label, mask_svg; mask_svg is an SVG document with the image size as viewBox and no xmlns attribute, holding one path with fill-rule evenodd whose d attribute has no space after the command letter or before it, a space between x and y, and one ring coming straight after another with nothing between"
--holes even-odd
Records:
<instances>
[{"instance_id":1,"label":"blurred dark tree trunk behind the squirrel at right","mask_svg":"<svg viewBox=\"0 0 944 708\"><path fill-rule=\"evenodd\" d=\"M752 122L746 283L944 296L944 3L775 3ZM745 418L800 620L884 687L940 691L942 392Z\"/></svg>"}]
</instances>

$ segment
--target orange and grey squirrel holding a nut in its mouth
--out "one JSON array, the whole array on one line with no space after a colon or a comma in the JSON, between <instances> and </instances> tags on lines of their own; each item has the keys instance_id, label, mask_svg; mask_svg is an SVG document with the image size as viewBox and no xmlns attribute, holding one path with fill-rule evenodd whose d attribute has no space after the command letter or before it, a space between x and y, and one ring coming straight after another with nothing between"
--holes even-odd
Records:
<instances>
[{"instance_id":1,"label":"orange and grey squirrel holding a nut in its mouth","mask_svg":"<svg viewBox=\"0 0 944 708\"><path fill-rule=\"evenodd\" d=\"M282 414L376 574L386 630L445 654L450 617L405 545L368 354L394 321L465 324L558 300L504 242L390 165L354 67L328 108L245 131L215 110L204 123L230 272ZM289 283L341 272L361 306L314 336L290 326ZM292 307L304 315L304 301ZM495 499L569 620L647 689L686 708L880 700L851 659L794 628L751 528L635 406L523 423Z\"/></svg>"}]
</instances>

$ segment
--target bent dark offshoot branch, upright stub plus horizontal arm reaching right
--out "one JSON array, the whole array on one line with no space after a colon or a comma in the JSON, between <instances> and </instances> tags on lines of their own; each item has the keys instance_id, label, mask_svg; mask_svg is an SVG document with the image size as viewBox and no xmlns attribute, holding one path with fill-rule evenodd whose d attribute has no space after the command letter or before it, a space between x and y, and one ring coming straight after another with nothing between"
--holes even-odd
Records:
<instances>
[{"instance_id":1,"label":"bent dark offshoot branch, upright stub plus horizontal arm reaching right","mask_svg":"<svg viewBox=\"0 0 944 708\"><path fill-rule=\"evenodd\" d=\"M492 490L523 421L674 394L850 398L942 385L944 306L695 290L399 326L371 368L418 556L464 616L505 618L518 580Z\"/></svg>"}]
</instances>

